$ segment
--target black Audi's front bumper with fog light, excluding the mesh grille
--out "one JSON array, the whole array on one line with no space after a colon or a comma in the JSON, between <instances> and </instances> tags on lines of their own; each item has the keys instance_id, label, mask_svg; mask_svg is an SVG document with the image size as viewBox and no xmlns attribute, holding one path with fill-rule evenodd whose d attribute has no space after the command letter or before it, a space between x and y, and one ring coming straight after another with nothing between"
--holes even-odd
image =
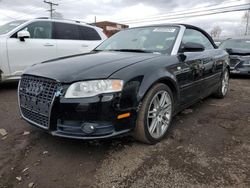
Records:
<instances>
[{"instance_id":1,"label":"black Audi's front bumper with fog light, excluding the mesh grille","mask_svg":"<svg viewBox=\"0 0 250 188\"><path fill-rule=\"evenodd\" d=\"M135 125L136 111L119 108L120 94L85 99L56 97L52 103L48 127L40 126L22 113L31 125L53 136L74 139L105 139L127 135ZM129 117L118 119L121 114Z\"/></svg>"}]
</instances>

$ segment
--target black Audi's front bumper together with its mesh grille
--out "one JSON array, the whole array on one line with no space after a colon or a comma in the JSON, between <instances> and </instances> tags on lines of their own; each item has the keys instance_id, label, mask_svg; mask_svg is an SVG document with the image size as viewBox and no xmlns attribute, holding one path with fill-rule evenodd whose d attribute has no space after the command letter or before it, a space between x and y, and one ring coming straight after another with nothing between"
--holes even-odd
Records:
<instances>
[{"instance_id":1,"label":"black Audi's front bumper together with its mesh grille","mask_svg":"<svg viewBox=\"0 0 250 188\"><path fill-rule=\"evenodd\" d=\"M67 99L68 87L56 80L23 75L18 86L21 116L54 136L76 139L116 137L135 127L133 92Z\"/></svg>"}]
</instances>

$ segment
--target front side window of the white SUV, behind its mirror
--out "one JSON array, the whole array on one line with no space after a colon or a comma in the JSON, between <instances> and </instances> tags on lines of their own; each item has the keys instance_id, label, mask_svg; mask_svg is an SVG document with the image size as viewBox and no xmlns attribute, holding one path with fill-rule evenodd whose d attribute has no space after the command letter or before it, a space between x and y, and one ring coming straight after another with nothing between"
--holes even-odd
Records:
<instances>
[{"instance_id":1,"label":"front side window of the white SUV, behind its mirror","mask_svg":"<svg viewBox=\"0 0 250 188\"><path fill-rule=\"evenodd\" d=\"M52 36L52 23L47 21L33 22L22 30L29 31L31 39L51 39ZM17 38L17 33L15 33L12 38Z\"/></svg>"}]
</instances>

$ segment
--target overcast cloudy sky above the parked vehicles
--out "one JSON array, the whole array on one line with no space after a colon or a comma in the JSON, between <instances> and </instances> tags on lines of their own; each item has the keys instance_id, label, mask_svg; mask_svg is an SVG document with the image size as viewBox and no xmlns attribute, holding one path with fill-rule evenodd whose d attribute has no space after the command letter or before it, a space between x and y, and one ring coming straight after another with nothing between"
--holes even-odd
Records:
<instances>
[{"instance_id":1,"label":"overcast cloudy sky above the parked vehicles","mask_svg":"<svg viewBox=\"0 0 250 188\"><path fill-rule=\"evenodd\" d=\"M119 21L130 27L181 22L200 26L208 32L219 25L224 36L243 33L242 17L245 11L154 22L142 22L142 19L157 18L163 14L171 15L171 12L205 11L215 7L250 3L249 0L52 0L52 2L59 4L55 9L66 19L94 22L96 16L97 21ZM0 25L14 19L48 16L49 13L46 11L48 8L48 4L43 0L0 0Z\"/></svg>"}]
</instances>

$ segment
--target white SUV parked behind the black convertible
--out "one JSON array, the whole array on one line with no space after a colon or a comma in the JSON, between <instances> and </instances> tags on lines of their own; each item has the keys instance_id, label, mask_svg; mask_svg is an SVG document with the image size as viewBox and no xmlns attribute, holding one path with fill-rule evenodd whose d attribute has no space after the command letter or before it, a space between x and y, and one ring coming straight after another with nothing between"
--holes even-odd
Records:
<instances>
[{"instance_id":1,"label":"white SUV parked behind the black convertible","mask_svg":"<svg viewBox=\"0 0 250 188\"><path fill-rule=\"evenodd\" d=\"M0 82L19 79L28 66L87 53L106 35L101 28L78 21L38 18L0 26Z\"/></svg>"}]
</instances>

